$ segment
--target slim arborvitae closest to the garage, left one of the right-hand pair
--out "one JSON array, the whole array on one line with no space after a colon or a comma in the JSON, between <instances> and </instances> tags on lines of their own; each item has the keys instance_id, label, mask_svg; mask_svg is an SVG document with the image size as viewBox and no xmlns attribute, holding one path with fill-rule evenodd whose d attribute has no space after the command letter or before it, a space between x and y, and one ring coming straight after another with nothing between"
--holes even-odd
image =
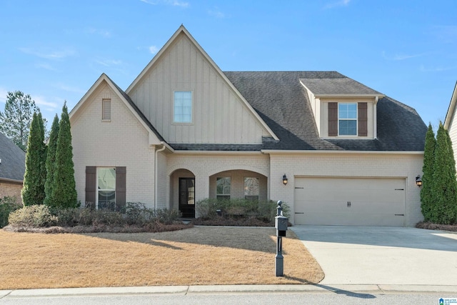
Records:
<instances>
[{"instance_id":1,"label":"slim arborvitae closest to the garage, left one of the right-hand pair","mask_svg":"<svg viewBox=\"0 0 457 305\"><path fill-rule=\"evenodd\" d=\"M431 221L431 210L433 206L433 164L435 163L435 133L428 124L426 133L426 144L423 149L422 166L422 188L421 188L421 209L424 221Z\"/></svg>"}]
</instances>

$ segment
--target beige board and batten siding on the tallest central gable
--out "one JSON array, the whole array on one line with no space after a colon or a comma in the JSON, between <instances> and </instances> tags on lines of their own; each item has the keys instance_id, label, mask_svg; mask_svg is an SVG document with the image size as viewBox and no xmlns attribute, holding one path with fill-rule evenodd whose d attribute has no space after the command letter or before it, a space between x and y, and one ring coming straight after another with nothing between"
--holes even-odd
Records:
<instances>
[{"instance_id":1,"label":"beige board and batten siding on the tallest central gable","mask_svg":"<svg viewBox=\"0 0 457 305\"><path fill-rule=\"evenodd\" d=\"M192 91L191 124L174 123L174 91ZM185 34L127 94L169 143L260 144L269 135Z\"/></svg>"}]
</instances>

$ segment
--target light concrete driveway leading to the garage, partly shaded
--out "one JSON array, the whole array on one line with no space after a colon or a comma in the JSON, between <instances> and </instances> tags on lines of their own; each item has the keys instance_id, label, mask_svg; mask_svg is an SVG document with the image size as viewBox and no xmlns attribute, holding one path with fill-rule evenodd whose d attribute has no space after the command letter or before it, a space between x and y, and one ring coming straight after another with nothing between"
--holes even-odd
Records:
<instances>
[{"instance_id":1,"label":"light concrete driveway leading to the garage, partly shaded","mask_svg":"<svg viewBox=\"0 0 457 305\"><path fill-rule=\"evenodd\" d=\"M457 284L457 234L368 226L290 229L326 274L320 284Z\"/></svg>"}]
</instances>

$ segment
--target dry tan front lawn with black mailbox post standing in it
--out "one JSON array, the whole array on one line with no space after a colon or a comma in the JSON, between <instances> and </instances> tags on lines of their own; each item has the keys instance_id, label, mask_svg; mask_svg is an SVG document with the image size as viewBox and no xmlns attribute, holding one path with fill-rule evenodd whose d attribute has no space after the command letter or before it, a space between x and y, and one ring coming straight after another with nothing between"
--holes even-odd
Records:
<instances>
[{"instance_id":1,"label":"dry tan front lawn with black mailbox post standing in it","mask_svg":"<svg viewBox=\"0 0 457 305\"><path fill-rule=\"evenodd\" d=\"M323 271L293 232L275 276L274 228L194 227L161 233L0 231L0 289L308 284Z\"/></svg>"}]
</instances>

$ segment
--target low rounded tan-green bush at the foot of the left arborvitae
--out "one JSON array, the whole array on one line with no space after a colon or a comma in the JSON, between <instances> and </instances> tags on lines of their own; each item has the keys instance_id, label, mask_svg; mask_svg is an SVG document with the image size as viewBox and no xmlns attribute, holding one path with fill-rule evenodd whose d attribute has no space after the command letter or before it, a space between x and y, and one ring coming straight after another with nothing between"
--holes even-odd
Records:
<instances>
[{"instance_id":1,"label":"low rounded tan-green bush at the foot of the left arborvitae","mask_svg":"<svg viewBox=\"0 0 457 305\"><path fill-rule=\"evenodd\" d=\"M35 228L55 226L58 223L57 216L51 214L49 207L43 204L24 206L22 209L9 214L11 226L31 226Z\"/></svg>"}]
</instances>

